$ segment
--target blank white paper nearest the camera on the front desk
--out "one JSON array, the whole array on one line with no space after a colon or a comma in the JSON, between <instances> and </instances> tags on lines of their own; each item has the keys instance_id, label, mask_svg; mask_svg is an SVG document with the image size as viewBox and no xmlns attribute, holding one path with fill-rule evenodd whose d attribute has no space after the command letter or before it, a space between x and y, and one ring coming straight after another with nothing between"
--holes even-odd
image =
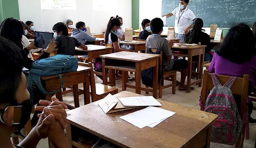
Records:
<instances>
[{"instance_id":1,"label":"blank white paper nearest the camera on the front desk","mask_svg":"<svg viewBox=\"0 0 256 148\"><path fill-rule=\"evenodd\" d=\"M120 118L133 124L134 126L137 126L138 128L144 128L160 120L169 118L174 114L175 112L161 109L159 107L147 107L140 111L120 116Z\"/></svg>"}]
</instances>

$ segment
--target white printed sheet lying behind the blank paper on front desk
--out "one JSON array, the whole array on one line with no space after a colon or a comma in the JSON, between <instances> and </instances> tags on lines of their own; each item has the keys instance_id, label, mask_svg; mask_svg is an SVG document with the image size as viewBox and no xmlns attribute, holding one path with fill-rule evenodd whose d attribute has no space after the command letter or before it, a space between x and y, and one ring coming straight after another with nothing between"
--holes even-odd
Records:
<instances>
[{"instance_id":1,"label":"white printed sheet lying behind the blank paper on front desk","mask_svg":"<svg viewBox=\"0 0 256 148\"><path fill-rule=\"evenodd\" d=\"M124 106L162 106L153 96L124 97L118 98Z\"/></svg>"}]
</instances>

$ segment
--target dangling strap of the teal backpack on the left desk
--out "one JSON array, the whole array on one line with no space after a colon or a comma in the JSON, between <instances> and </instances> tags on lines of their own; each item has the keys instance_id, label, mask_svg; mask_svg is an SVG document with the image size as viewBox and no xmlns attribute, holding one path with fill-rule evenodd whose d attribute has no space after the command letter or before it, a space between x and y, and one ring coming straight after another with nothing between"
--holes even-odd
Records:
<instances>
[{"instance_id":1,"label":"dangling strap of the teal backpack on the left desk","mask_svg":"<svg viewBox=\"0 0 256 148\"><path fill-rule=\"evenodd\" d=\"M60 80L61 80L60 89L58 89L57 91L54 91L54 92L47 92L44 89L44 87L42 86L41 77L36 76L36 75L31 75L31 74L28 76L28 87L30 87L30 88L32 87L32 82L34 80L36 85L40 89L40 91L42 91L42 93L44 93L44 94L53 94L53 93L56 93L56 92L60 91L62 89L63 85L64 85L64 79L62 79L62 75L59 74L59 77L60 77Z\"/></svg>"}]
</instances>

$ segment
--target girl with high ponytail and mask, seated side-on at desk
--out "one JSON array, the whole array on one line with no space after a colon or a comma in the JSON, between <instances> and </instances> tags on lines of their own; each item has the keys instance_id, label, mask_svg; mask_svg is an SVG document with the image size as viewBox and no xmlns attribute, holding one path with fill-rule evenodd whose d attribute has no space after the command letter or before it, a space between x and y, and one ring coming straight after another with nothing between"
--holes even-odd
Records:
<instances>
[{"instance_id":1,"label":"girl with high ponytail and mask, seated side-on at desk","mask_svg":"<svg viewBox=\"0 0 256 148\"><path fill-rule=\"evenodd\" d=\"M114 33L116 30L120 28L121 22L117 18L111 17L108 25L107 30L105 33L105 43L106 44L112 44L114 47L114 52L120 52L120 51L129 51L127 49L120 49L120 39L118 39L118 36Z\"/></svg>"}]
</instances>

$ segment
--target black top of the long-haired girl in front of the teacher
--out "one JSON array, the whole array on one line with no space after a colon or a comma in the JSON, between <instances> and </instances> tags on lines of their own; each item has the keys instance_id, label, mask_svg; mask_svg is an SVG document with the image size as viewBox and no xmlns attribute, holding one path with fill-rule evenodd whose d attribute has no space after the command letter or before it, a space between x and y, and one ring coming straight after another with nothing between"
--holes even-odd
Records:
<instances>
[{"instance_id":1,"label":"black top of the long-haired girl in front of the teacher","mask_svg":"<svg viewBox=\"0 0 256 148\"><path fill-rule=\"evenodd\" d=\"M210 47L210 43L211 43L211 39L210 39L210 36L204 32L199 32L198 33L198 36L194 36L194 39L193 41L190 41L189 42L189 35L190 35L191 32L188 32L185 36L185 43L196 43L198 44L199 42L201 42L201 45L206 45L207 47L205 48L205 52L208 52L211 50L211 47Z\"/></svg>"}]
</instances>

